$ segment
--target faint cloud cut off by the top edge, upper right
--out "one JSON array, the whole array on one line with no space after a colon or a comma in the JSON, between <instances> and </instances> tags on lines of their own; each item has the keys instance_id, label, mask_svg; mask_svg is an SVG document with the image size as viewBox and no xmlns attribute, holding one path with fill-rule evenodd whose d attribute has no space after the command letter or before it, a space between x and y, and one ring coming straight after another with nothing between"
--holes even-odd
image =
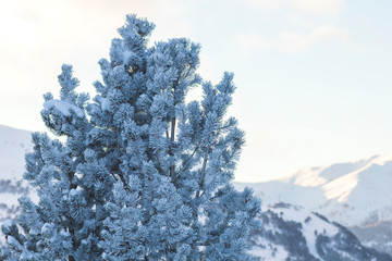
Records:
<instances>
[{"instance_id":1,"label":"faint cloud cut off by the top edge, upper right","mask_svg":"<svg viewBox=\"0 0 392 261\"><path fill-rule=\"evenodd\" d=\"M335 15L345 5L345 0L245 0L266 10L296 10L314 15Z\"/></svg>"}]
</instances>

